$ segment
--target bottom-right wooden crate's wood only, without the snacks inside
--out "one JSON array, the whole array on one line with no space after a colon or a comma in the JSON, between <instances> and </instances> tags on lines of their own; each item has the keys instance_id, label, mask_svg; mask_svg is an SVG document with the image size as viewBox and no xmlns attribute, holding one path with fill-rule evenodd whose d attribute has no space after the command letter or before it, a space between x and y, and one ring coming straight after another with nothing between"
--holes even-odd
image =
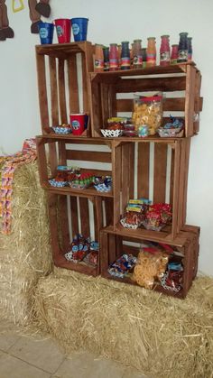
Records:
<instances>
[{"instance_id":1,"label":"bottom-right wooden crate's wood only, without the snacks inside","mask_svg":"<svg viewBox=\"0 0 213 378\"><path fill-rule=\"evenodd\" d=\"M189 226L190 227L190 226ZM197 227L199 229L199 227ZM132 242L133 245L126 242ZM181 263L183 265L183 278L182 289L178 292L165 290L160 284L153 287L153 290L162 292L163 294L171 295L177 298L185 298L190 290L191 283L196 276L198 257L199 257L199 234L196 231L181 231L179 235L172 241L167 242L163 234L158 237L151 237L150 235L144 235L143 238L139 238L137 234L130 234L128 230L123 233L115 231L112 226L108 226L100 232L100 272L106 279L121 281L125 283L131 283L136 285L131 278L119 279L112 276L108 270L108 266L114 263L124 253L138 254L140 247L135 246L135 243L147 244L147 242L157 242L162 244L169 244L171 247L183 255L181 257Z\"/></svg>"}]
</instances>

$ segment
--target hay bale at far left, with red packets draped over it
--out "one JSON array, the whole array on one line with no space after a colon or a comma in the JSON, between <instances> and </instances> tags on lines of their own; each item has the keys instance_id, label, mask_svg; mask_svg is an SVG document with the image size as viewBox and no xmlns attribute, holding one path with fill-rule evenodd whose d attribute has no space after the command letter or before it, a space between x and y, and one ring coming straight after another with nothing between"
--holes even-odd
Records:
<instances>
[{"instance_id":1,"label":"hay bale at far left, with red packets draped over it","mask_svg":"<svg viewBox=\"0 0 213 378\"><path fill-rule=\"evenodd\" d=\"M12 234L0 234L0 317L25 325L33 316L35 286L52 265L46 198L36 161L14 173L12 210Z\"/></svg>"}]
</instances>

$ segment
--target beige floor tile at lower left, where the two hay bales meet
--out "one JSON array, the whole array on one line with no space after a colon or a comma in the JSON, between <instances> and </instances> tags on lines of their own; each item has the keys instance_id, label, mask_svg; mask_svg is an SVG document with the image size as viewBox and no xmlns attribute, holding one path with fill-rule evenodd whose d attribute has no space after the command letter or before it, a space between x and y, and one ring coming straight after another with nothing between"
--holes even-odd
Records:
<instances>
[{"instance_id":1,"label":"beige floor tile at lower left, where the two hay bales meet","mask_svg":"<svg viewBox=\"0 0 213 378\"><path fill-rule=\"evenodd\" d=\"M21 358L48 373L55 373L65 358L50 338L42 337L20 337L10 349L10 355Z\"/></svg>"}]
</instances>

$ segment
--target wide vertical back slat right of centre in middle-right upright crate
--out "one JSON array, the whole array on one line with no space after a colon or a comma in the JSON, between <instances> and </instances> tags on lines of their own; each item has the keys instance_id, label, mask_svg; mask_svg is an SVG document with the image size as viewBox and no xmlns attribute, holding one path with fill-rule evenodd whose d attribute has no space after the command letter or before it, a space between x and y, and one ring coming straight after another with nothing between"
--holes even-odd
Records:
<instances>
[{"instance_id":1,"label":"wide vertical back slat right of centre in middle-right upright crate","mask_svg":"<svg viewBox=\"0 0 213 378\"><path fill-rule=\"evenodd\" d=\"M167 145L154 143L153 203L165 202Z\"/></svg>"}]
</instances>

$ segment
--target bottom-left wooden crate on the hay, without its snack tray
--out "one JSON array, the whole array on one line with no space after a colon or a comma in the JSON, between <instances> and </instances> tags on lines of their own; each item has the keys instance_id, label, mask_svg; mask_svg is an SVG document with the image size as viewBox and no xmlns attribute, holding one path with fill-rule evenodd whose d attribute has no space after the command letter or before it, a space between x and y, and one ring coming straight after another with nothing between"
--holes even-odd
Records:
<instances>
[{"instance_id":1,"label":"bottom-left wooden crate on the hay, without its snack tray","mask_svg":"<svg viewBox=\"0 0 213 378\"><path fill-rule=\"evenodd\" d=\"M88 198L80 195L69 196L48 191L48 205L54 264L60 268L97 276L99 262L97 267L86 263L73 263L68 261L64 254L69 252L74 235L79 233L90 237L91 240L99 241L99 230L104 224L102 199L91 196Z\"/></svg>"}]
</instances>

